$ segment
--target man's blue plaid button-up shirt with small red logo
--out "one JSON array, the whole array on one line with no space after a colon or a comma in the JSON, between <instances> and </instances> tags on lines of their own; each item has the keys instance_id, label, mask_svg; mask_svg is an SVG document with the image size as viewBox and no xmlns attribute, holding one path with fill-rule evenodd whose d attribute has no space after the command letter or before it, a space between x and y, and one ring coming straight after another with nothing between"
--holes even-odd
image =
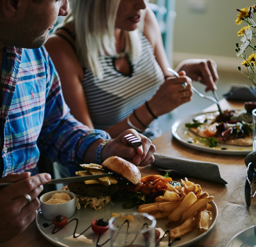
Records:
<instances>
[{"instance_id":1,"label":"man's blue plaid button-up shirt with small red logo","mask_svg":"<svg viewBox=\"0 0 256 247\"><path fill-rule=\"evenodd\" d=\"M96 139L109 138L105 131L90 130L70 114L57 71L43 47L5 47L1 86L2 176L35 174L39 153L74 173L87 148Z\"/></svg>"}]
</instances>

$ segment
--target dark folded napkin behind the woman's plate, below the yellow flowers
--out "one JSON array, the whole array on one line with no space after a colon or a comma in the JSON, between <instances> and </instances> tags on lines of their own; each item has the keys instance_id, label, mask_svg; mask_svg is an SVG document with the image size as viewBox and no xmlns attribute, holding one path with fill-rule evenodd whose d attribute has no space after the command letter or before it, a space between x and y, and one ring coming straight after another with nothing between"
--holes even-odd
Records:
<instances>
[{"instance_id":1,"label":"dark folded napkin behind the woman's plate, below the yellow flowers","mask_svg":"<svg viewBox=\"0 0 256 247\"><path fill-rule=\"evenodd\" d=\"M256 89L255 86L251 85L233 85L229 92L223 94L225 99L233 100L256 100Z\"/></svg>"}]
</instances>

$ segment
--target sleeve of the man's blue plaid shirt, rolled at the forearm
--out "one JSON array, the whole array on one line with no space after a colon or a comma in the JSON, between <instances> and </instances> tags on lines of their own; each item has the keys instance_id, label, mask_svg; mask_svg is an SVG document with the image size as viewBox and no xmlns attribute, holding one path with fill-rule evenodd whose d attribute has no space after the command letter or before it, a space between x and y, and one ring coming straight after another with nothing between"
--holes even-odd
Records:
<instances>
[{"instance_id":1,"label":"sleeve of the man's blue plaid shirt, rolled at the forearm","mask_svg":"<svg viewBox=\"0 0 256 247\"><path fill-rule=\"evenodd\" d=\"M46 52L46 51L45 51ZM108 139L103 130L90 130L77 121L66 105L57 71L47 55L47 96L44 122L37 140L40 153L67 166L71 173L79 169L87 148L97 139Z\"/></svg>"}]
</instances>

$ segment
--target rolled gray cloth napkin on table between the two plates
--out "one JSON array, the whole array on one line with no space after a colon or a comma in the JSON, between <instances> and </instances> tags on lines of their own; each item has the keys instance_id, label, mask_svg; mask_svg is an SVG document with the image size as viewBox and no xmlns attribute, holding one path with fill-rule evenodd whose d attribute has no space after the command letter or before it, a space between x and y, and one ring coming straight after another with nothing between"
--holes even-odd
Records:
<instances>
[{"instance_id":1,"label":"rolled gray cloth napkin on table between the two plates","mask_svg":"<svg viewBox=\"0 0 256 247\"><path fill-rule=\"evenodd\" d=\"M154 154L153 167L159 171L167 172L169 175L196 177L226 185L227 182L220 177L217 164L193 161L171 156Z\"/></svg>"}]
</instances>

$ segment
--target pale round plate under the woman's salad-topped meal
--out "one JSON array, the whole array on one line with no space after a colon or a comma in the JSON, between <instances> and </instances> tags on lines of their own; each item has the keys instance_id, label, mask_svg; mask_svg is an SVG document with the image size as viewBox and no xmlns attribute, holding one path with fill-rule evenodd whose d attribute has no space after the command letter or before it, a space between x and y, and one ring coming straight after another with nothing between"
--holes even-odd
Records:
<instances>
[{"instance_id":1,"label":"pale round plate under the woman's salad-topped meal","mask_svg":"<svg viewBox=\"0 0 256 247\"><path fill-rule=\"evenodd\" d=\"M215 112L215 111L213 111ZM172 134L173 136L182 144L184 144L187 147L200 150L203 152L208 153L214 153L214 154L224 154L224 155L247 155L250 152L252 152L252 146L251 147L243 147L243 146L234 146L234 145L228 145L228 144L220 144L220 146L216 148L209 148L206 146L202 146L201 144L195 144L195 143L189 143L189 138L186 134L186 131L189 131L188 128L185 127L186 123L189 123L191 119L198 115L202 115L209 112L197 112L192 115L185 116L183 118L180 118L176 120L172 125ZM192 132L189 132L192 134ZM222 150L221 148L226 148L226 150Z\"/></svg>"}]
</instances>

